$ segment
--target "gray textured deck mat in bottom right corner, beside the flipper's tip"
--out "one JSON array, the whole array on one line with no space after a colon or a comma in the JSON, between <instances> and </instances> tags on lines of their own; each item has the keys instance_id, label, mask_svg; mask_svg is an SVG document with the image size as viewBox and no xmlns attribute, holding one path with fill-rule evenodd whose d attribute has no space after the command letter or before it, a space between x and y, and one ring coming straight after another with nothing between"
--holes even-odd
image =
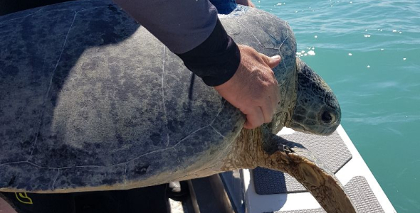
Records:
<instances>
[{"instance_id":1,"label":"gray textured deck mat in bottom right corner, beside the flipper's tip","mask_svg":"<svg viewBox=\"0 0 420 213\"><path fill-rule=\"evenodd\" d=\"M345 190L359 213L384 213L384 209L382 209L377 197L375 197L372 189L369 187L369 183L362 176L356 176L347 182ZM264 213L325 213L325 210L318 208Z\"/></svg>"}]
</instances>

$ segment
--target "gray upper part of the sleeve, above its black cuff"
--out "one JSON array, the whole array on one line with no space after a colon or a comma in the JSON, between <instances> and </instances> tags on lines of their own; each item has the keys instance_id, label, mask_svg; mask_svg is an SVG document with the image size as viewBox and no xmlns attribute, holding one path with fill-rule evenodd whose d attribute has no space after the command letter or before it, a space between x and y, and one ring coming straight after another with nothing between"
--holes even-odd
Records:
<instances>
[{"instance_id":1,"label":"gray upper part of the sleeve, above its black cuff","mask_svg":"<svg viewBox=\"0 0 420 213\"><path fill-rule=\"evenodd\" d=\"M186 53L209 37L217 10L208 0L114 0L173 53Z\"/></svg>"}]
</instances>

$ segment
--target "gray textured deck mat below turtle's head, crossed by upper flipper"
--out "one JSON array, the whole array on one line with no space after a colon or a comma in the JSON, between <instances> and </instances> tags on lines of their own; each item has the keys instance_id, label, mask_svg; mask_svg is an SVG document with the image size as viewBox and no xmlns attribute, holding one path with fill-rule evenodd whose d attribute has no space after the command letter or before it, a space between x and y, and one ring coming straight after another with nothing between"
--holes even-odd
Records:
<instances>
[{"instance_id":1,"label":"gray textured deck mat below turtle's head, crossed by upper flipper","mask_svg":"<svg viewBox=\"0 0 420 213\"><path fill-rule=\"evenodd\" d=\"M301 143L313 152L333 173L337 173L352 158L352 154L337 131L330 136L315 136L295 132L290 135L282 135L282 137L289 141ZM306 191L303 185L288 174L266 168L256 168L252 171L252 174L254 187L258 195Z\"/></svg>"}]
</instances>

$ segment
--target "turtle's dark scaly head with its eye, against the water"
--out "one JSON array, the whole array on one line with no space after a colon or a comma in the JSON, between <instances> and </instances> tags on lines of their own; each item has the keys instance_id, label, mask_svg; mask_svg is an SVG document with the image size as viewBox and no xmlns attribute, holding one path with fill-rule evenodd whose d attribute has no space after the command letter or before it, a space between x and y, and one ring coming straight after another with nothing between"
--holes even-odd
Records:
<instances>
[{"instance_id":1,"label":"turtle's dark scaly head with its eye, against the water","mask_svg":"<svg viewBox=\"0 0 420 213\"><path fill-rule=\"evenodd\" d=\"M341 120L341 109L332 90L308 65L296 58L297 99L286 126L295 131L330 135Z\"/></svg>"}]
</instances>

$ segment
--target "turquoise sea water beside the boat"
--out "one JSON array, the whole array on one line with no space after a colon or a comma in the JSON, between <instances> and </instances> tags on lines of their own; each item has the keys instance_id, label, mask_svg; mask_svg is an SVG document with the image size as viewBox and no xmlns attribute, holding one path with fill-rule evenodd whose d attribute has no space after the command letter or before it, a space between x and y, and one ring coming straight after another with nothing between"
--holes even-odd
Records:
<instances>
[{"instance_id":1,"label":"turquoise sea water beside the boat","mask_svg":"<svg viewBox=\"0 0 420 213\"><path fill-rule=\"evenodd\" d=\"M397 212L420 212L420 1L254 3L290 23Z\"/></svg>"}]
</instances>

